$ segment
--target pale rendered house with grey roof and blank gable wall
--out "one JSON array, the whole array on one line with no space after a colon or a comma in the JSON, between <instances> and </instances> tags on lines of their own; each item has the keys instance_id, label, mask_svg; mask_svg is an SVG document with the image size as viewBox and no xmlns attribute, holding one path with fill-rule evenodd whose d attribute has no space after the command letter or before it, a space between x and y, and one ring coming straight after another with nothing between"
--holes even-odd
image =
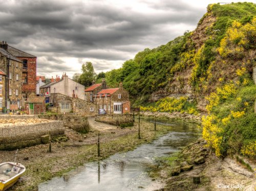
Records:
<instances>
[{"instance_id":1,"label":"pale rendered house with grey roof and blank gable wall","mask_svg":"<svg viewBox=\"0 0 256 191\"><path fill-rule=\"evenodd\" d=\"M84 86L71 80L66 74L59 81L54 81L40 87L40 95L46 97L46 103L54 104L54 97L51 93L60 93L71 98L84 100Z\"/></svg>"}]
</instances>

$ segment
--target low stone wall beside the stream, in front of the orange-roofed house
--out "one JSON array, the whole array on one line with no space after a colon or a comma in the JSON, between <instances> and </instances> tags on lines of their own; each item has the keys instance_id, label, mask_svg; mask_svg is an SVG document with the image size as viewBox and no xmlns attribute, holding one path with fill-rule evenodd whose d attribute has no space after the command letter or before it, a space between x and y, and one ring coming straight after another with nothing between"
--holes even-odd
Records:
<instances>
[{"instance_id":1,"label":"low stone wall beside the stream, in front of the orange-roofed house","mask_svg":"<svg viewBox=\"0 0 256 191\"><path fill-rule=\"evenodd\" d=\"M113 114L104 115L98 114L95 117L96 122L102 122L120 127L130 127L133 126L133 115L132 114Z\"/></svg>"}]
</instances>

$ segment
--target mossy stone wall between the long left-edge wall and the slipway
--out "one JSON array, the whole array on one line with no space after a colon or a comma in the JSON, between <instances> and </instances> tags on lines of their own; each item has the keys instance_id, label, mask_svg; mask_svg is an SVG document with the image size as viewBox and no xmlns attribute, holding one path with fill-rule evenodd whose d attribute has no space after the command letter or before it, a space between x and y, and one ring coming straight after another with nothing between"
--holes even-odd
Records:
<instances>
[{"instance_id":1,"label":"mossy stone wall between the long left-edge wall and the slipway","mask_svg":"<svg viewBox=\"0 0 256 191\"><path fill-rule=\"evenodd\" d=\"M44 114L38 115L39 118L47 120L62 121L65 128L71 128L78 132L89 131L88 118L86 116L75 115L75 114Z\"/></svg>"}]
</instances>

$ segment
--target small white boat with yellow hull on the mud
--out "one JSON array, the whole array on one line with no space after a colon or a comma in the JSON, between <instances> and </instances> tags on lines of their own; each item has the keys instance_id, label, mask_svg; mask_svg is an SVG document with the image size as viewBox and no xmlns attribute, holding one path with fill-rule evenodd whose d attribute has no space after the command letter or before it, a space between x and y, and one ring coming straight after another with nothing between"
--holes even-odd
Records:
<instances>
[{"instance_id":1,"label":"small white boat with yellow hull on the mud","mask_svg":"<svg viewBox=\"0 0 256 191\"><path fill-rule=\"evenodd\" d=\"M25 166L20 163L4 162L0 164L0 191L15 184L25 171Z\"/></svg>"}]
</instances>

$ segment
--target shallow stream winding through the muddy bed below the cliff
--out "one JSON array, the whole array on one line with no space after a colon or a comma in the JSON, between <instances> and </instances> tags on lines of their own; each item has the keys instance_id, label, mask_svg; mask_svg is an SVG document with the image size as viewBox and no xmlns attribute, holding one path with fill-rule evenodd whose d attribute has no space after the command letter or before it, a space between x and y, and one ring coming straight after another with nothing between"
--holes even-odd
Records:
<instances>
[{"instance_id":1,"label":"shallow stream winding through the muddy bed below the cliff","mask_svg":"<svg viewBox=\"0 0 256 191\"><path fill-rule=\"evenodd\" d=\"M154 123L150 118L143 120ZM154 190L160 182L148 177L149 167L156 159L167 156L188 145L199 136L197 125L170 120L157 120L157 124L172 126L172 131L126 153L115 154L100 162L87 163L69 173L38 186L49 190ZM143 189L144 188L144 189Z\"/></svg>"}]
</instances>

